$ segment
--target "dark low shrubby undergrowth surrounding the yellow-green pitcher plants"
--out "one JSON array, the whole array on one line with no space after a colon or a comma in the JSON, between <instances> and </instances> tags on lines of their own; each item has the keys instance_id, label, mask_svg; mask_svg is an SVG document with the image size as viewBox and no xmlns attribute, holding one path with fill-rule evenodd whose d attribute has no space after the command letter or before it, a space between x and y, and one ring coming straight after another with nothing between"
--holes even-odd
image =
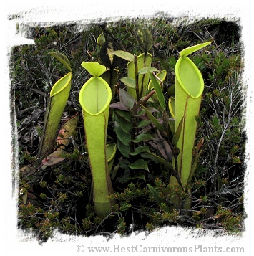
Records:
<instances>
[{"instance_id":1,"label":"dark low shrubby undergrowth surrounding the yellow-green pitcher plants","mask_svg":"<svg viewBox=\"0 0 254 256\"><path fill-rule=\"evenodd\" d=\"M62 52L72 65L72 87L62 115L64 123L73 115L82 113L79 91L88 80L89 73L81 63L103 62L100 55L102 46L97 42L102 24L86 27L76 24L27 26L28 37L34 39L35 44L17 46L11 52L11 117L13 131L15 128L17 131L14 139L19 152L20 171L19 177L16 177L19 179L19 228L34 232L34 236L41 241L47 241L55 229L65 234L86 236L130 234L144 230L152 232L157 227L170 225L220 229L230 234L243 231L245 103L239 24L214 19L193 23L151 19L145 24L153 38L150 50L152 67L167 71L163 87L166 102L172 95L179 52L186 47L212 41L212 44L190 56L205 81L200 115L196 117L195 144L202 138L203 143L195 174L187 189L168 186L170 176L174 174L167 166L147 157L145 148L127 158L124 153L126 147L121 148L118 141L111 173L114 189L111 197L116 203L111 214L98 217L92 204L92 177L82 115L79 115L71 143L64 147L64 160L44 168L36 166L47 94L54 83L67 73L62 63L49 52ZM126 52L142 54L135 34L135 21L121 20L106 27ZM127 76L126 63L117 68L119 79ZM124 83L118 80L114 102L119 101L117 91L124 89ZM156 100L147 104L150 108L157 108ZM156 113L154 115L162 118ZM122 114L120 111L112 115L109 140L117 143L121 139L114 123L121 127L122 119L128 121L128 118L131 122L130 113ZM136 125L140 125L139 128L152 127L149 122ZM130 147L132 143L140 143L131 137L124 136L124 139L130 139L127 143ZM168 140L167 143L172 140L170 135ZM155 144L156 141L151 141L146 146L152 152L163 154L160 145ZM135 166L133 163L137 160L146 164L142 166L140 162L141 165ZM190 194L188 191L191 191ZM175 206L174 199L179 196L182 204ZM189 198L191 207L186 208L184 204Z\"/></svg>"}]
</instances>

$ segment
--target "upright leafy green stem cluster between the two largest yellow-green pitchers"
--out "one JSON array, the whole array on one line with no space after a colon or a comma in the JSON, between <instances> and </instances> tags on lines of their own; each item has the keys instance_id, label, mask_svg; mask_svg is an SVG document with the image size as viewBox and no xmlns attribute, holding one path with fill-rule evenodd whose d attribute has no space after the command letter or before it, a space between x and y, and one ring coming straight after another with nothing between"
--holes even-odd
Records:
<instances>
[{"instance_id":1,"label":"upright leafy green stem cluster between the two largest yellow-green pitchers","mask_svg":"<svg viewBox=\"0 0 254 256\"><path fill-rule=\"evenodd\" d=\"M145 70L142 70L145 73ZM169 141L168 116L166 113L165 98L160 85L160 78L154 72L146 70L150 76L152 88L147 96L136 102L135 98L125 90L119 90L119 102L110 105L114 109L114 130L117 136L117 149L124 157L119 166L125 170L121 181L131 179L130 169L137 170L135 177L145 180L144 172L149 171L148 164L164 166L168 174L175 175L172 166L172 146ZM159 82L160 81L160 82ZM147 102L155 95L158 109Z\"/></svg>"}]
</instances>

